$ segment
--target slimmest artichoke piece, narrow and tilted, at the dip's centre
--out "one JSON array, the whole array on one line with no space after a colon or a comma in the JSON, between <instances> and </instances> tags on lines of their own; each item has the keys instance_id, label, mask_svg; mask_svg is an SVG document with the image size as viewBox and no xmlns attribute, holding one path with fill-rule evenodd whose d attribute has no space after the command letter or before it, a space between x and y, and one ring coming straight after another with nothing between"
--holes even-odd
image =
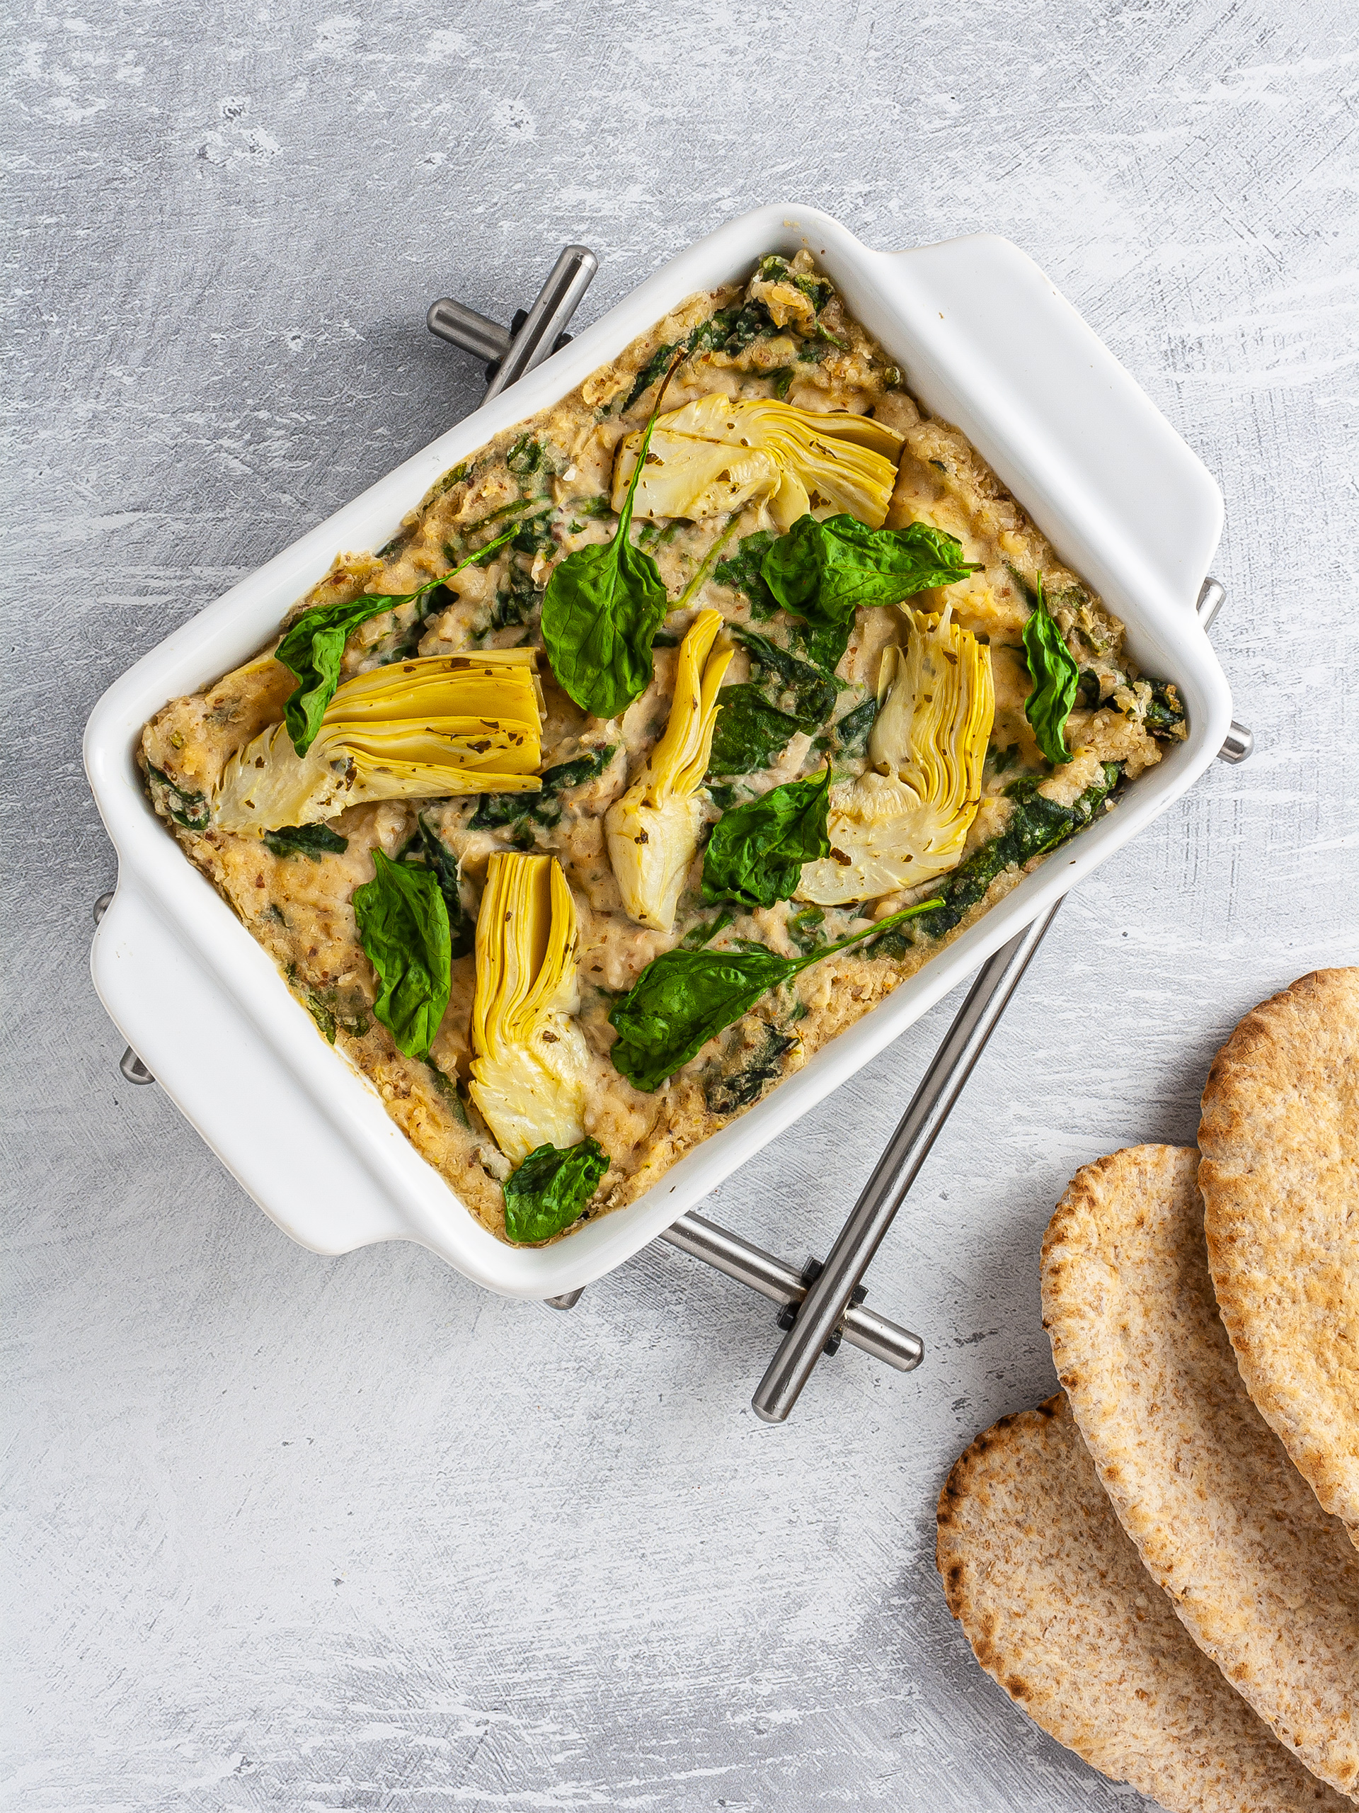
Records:
<instances>
[{"instance_id":1,"label":"slimmest artichoke piece, narrow and tilted, at the dip's centre","mask_svg":"<svg viewBox=\"0 0 1359 1813\"><path fill-rule=\"evenodd\" d=\"M718 689L736 653L714 649L721 624L719 611L699 611L690 624L680 644L665 734L641 774L603 816L623 910L636 925L656 932L674 926L680 890L703 827L698 789L708 769Z\"/></svg>"}]
</instances>

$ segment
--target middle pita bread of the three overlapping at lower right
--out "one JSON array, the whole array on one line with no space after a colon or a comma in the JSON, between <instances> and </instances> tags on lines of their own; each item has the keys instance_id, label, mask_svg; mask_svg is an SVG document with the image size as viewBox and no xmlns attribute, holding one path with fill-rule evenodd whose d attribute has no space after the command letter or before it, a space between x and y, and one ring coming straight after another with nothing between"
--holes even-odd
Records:
<instances>
[{"instance_id":1,"label":"middle pita bread of the three overlapping at lower right","mask_svg":"<svg viewBox=\"0 0 1359 1813\"><path fill-rule=\"evenodd\" d=\"M1151 1577L1277 1737L1354 1793L1359 1557L1236 1371L1196 1173L1174 1146L1076 1173L1044 1238L1044 1327Z\"/></svg>"}]
</instances>

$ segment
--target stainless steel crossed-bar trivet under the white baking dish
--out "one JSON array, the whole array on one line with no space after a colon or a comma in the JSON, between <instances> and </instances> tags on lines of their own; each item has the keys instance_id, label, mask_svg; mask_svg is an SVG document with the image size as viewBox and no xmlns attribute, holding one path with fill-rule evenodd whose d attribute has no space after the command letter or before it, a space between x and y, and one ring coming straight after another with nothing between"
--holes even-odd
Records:
<instances>
[{"instance_id":1,"label":"stainless steel crossed-bar trivet under the white baking dish","mask_svg":"<svg viewBox=\"0 0 1359 1813\"><path fill-rule=\"evenodd\" d=\"M451 297L440 297L429 306L426 325L431 334L486 363L489 399L567 343L567 323L598 268L600 263L589 247L567 245L533 305L520 310L509 328ZM1216 578L1203 582L1198 615L1205 627L1221 609L1225 596ZM1250 731L1232 723L1218 754L1223 761L1245 761L1252 747ZM111 894L101 894L94 903L96 923L111 899ZM694 1213L681 1215L660 1236L779 1304L779 1325L785 1336L750 1400L763 1421L786 1421L817 1360L834 1354L841 1342L884 1360L901 1372L913 1371L924 1358L924 1343L917 1334L864 1309L863 1278L1060 905L1058 899L988 957L977 972L966 1001L824 1264L808 1260L797 1269ZM130 1046L123 1052L120 1070L129 1082L156 1081ZM582 1291L571 1291L547 1302L553 1309L571 1309L580 1296Z\"/></svg>"}]
</instances>

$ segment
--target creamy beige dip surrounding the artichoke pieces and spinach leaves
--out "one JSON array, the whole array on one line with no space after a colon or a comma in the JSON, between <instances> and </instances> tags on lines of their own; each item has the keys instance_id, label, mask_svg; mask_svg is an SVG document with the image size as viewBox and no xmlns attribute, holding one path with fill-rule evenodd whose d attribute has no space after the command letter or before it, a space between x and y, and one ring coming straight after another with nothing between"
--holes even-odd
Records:
<instances>
[{"instance_id":1,"label":"creamy beige dip surrounding the artichoke pieces and spinach leaves","mask_svg":"<svg viewBox=\"0 0 1359 1813\"><path fill-rule=\"evenodd\" d=\"M913 401L904 375L830 286L821 288L823 279L805 254L797 268L808 276L801 288L756 277L745 288L727 286L685 301L560 402L446 473L386 548L339 555L288 622L319 604L342 604L362 593L413 593L451 573L466 558L469 538L484 540L487 524L506 529L518 524L515 538L493 558L460 571L433 598L426 593L357 627L348 636L341 673L348 678L410 654L542 649L542 598L553 567L569 551L614 535L618 517L609 499L616 450L656 406L665 350L692 344L696 330L716 319L708 344L698 335L696 350L674 372L665 393L667 412L723 393L868 415L904 437L886 528L933 526L957 537L966 560L978 564L968 578L946 587L953 622L988 645L995 687L982 803L968 830L964 859L1006 830L1017 810L1007 789L1026 776L1036 781L1042 798L1067 807L1094 789L1098 809L1107 810L1111 801L1102 778L1111 771L1104 765L1118 763L1122 778L1134 780L1160 760L1167 736L1183 734L1174 689L1136 673L1123 653L1123 625L1062 564L964 435ZM812 290L828 297L819 308L806 305ZM506 1226L502 1182L511 1166L467 1091L475 955L466 952L453 959L448 1010L429 1059L417 1061L402 1055L373 1015L377 981L357 936L355 887L373 877L375 850L397 858L410 847L419 832L417 818L457 859L473 916L487 859L496 850L535 850L562 865L578 914L578 1024L593 1068L583 1126L609 1157L587 1217L640 1197L685 1151L743 1113L915 974L1013 888L1024 867L1031 867L1002 865L957 923L933 936L913 930L908 921L877 945L857 945L803 970L708 1041L654 1093L643 1093L614 1070L609 1013L620 995L654 957L687 937L692 943L699 936L696 928L716 923L718 916L699 897L699 847L674 928L661 932L634 923L623 910L609 861L603 814L627 790L665 731L678 642L699 609L719 611L732 629L756 629L777 649L801 651L797 625L786 613L772 609L768 596L752 598L734 582L737 569L723 560L710 564L719 537L721 553L730 560L745 537L761 529L768 529L768 517L759 502L745 506L734 522L727 515L698 522L634 522L634 542L656 560L669 596L683 604L670 611L658 636L651 685L618 718L585 716L556 684L547 658L538 658L542 771L573 763L551 792L350 807L328 821L348 839L342 852L274 854L259 836L214 827L210 800L228 758L283 718L295 687L294 674L272 658L277 640L203 693L169 703L143 732L141 760L152 801L185 854L277 963L315 1019L319 1035L370 1079L422 1157L500 1236ZM1038 575L1082 673L1076 707L1065 720L1075 760L1060 767L1044 758L1026 718L1031 678L1022 631ZM913 596L910 607L940 611L944 602L940 589ZM699 792L705 827L736 803L819 772L826 760L837 780L863 774L868 756L863 731L855 727L872 718L868 702L875 698L882 651L901 636L897 607L859 611L834 673L837 694L826 722L810 732L797 731L766 769L737 776L710 772ZM756 678L761 674L777 705L777 676L757 669ZM750 647L737 642L725 687L750 678ZM846 720L853 720L850 729L837 731ZM708 948L734 950L741 941L756 941L792 957L808 950L810 941L830 943L863 930L930 892L924 887L814 912L797 899L741 910L728 917Z\"/></svg>"}]
</instances>

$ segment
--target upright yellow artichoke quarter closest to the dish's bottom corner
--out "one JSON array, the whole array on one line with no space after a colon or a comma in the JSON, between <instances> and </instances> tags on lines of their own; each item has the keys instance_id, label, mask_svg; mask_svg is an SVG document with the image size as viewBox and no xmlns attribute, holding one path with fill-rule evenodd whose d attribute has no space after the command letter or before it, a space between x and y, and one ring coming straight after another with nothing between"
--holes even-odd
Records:
<instances>
[{"instance_id":1,"label":"upright yellow artichoke quarter closest to the dish's bottom corner","mask_svg":"<svg viewBox=\"0 0 1359 1813\"><path fill-rule=\"evenodd\" d=\"M491 858L477 914L471 1099L511 1164L585 1139L576 905L553 856Z\"/></svg>"}]
</instances>

